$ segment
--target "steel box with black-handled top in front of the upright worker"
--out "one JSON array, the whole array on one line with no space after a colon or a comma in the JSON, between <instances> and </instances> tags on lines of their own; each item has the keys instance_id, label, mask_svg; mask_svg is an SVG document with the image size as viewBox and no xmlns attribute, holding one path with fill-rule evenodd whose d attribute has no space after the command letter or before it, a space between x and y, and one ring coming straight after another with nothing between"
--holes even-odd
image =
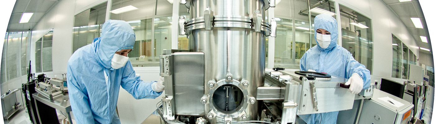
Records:
<instances>
[{"instance_id":1,"label":"steel box with black-handled top in front of the upright worker","mask_svg":"<svg viewBox=\"0 0 436 124\"><path fill-rule=\"evenodd\" d=\"M342 111L353 108L353 102L355 95L348 92L346 88L340 88L339 83L347 81L345 78L332 77L331 79L315 79L307 80L303 78L300 80L300 76L295 74L295 70L285 69L282 71L283 75L291 75L296 82L301 84L301 95L299 96L299 111L298 114L315 114L331 111ZM317 93L317 108L314 109L312 95L310 95L310 82L314 83Z\"/></svg>"}]
</instances>

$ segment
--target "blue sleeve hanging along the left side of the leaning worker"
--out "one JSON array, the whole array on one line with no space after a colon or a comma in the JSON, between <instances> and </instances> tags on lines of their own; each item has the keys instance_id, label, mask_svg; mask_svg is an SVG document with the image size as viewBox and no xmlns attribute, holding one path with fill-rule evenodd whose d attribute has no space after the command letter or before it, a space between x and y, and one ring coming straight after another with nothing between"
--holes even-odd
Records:
<instances>
[{"instance_id":1,"label":"blue sleeve hanging along the left side of the leaning worker","mask_svg":"<svg viewBox=\"0 0 436 124\"><path fill-rule=\"evenodd\" d=\"M88 92L85 86L75 78L75 74L78 73L73 72L68 65L67 74L68 95L76 123L94 124L94 117L89 107Z\"/></svg>"}]
</instances>

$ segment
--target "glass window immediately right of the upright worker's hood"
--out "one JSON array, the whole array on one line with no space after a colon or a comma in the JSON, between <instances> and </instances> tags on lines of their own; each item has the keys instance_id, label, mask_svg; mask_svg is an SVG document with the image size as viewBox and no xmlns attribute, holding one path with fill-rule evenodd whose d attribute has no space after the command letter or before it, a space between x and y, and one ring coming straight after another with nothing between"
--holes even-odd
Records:
<instances>
[{"instance_id":1,"label":"glass window immediately right of the upright worker's hood","mask_svg":"<svg viewBox=\"0 0 436 124\"><path fill-rule=\"evenodd\" d=\"M372 74L372 26L371 19L350 8L339 5L342 27L342 47L350 52L354 59L365 65ZM360 26L363 25L363 26Z\"/></svg>"}]
</instances>

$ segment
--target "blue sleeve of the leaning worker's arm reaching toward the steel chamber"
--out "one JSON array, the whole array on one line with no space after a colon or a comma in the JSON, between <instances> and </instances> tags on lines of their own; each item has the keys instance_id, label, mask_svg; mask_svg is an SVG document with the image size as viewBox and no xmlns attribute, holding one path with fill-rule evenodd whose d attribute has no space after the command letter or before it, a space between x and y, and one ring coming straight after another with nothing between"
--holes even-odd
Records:
<instances>
[{"instance_id":1,"label":"blue sleeve of the leaning worker's arm reaching toward the steel chamber","mask_svg":"<svg viewBox=\"0 0 436 124\"><path fill-rule=\"evenodd\" d=\"M155 92L151 88L153 82L144 82L140 76L135 75L132 64L127 61L124 66L123 78L121 78L121 87L128 91L133 98L157 98L162 92Z\"/></svg>"}]
</instances>

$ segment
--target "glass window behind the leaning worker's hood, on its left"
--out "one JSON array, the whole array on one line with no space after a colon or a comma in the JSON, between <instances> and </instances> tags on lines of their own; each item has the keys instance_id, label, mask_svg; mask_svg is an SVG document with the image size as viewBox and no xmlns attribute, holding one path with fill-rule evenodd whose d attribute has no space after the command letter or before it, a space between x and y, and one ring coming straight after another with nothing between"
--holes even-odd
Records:
<instances>
[{"instance_id":1,"label":"glass window behind the leaning worker's hood, on its left","mask_svg":"<svg viewBox=\"0 0 436 124\"><path fill-rule=\"evenodd\" d=\"M100 37L106 20L106 7L107 2L101 3L74 16L73 53Z\"/></svg>"}]
</instances>

